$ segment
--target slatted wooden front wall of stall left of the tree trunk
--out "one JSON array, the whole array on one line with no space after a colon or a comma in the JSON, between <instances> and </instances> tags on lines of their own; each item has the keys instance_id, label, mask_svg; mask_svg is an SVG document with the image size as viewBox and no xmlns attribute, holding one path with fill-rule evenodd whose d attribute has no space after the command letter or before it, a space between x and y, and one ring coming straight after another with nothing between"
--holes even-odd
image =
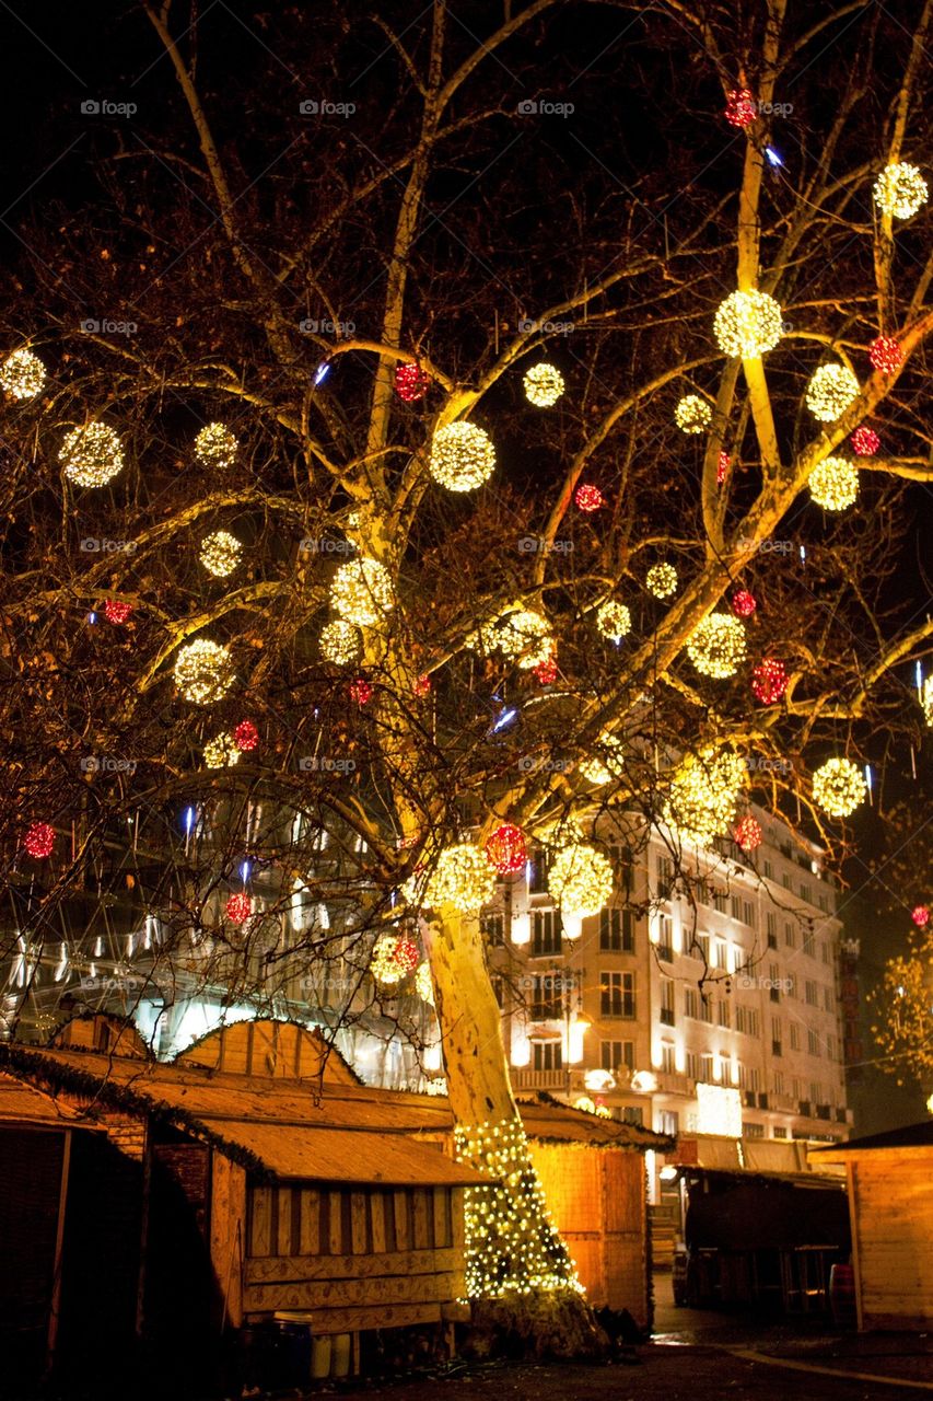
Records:
<instances>
[{"instance_id":1,"label":"slatted wooden front wall of stall left of the tree trunk","mask_svg":"<svg viewBox=\"0 0 933 1401\"><path fill-rule=\"evenodd\" d=\"M318 1332L437 1321L464 1290L462 1210L461 1188L249 1187L242 1311L310 1311Z\"/></svg>"}]
</instances>

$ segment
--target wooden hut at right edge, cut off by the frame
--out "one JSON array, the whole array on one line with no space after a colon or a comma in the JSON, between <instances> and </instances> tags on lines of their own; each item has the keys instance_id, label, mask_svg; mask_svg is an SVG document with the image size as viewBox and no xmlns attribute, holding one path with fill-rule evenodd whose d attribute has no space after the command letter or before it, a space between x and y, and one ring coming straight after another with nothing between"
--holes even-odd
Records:
<instances>
[{"instance_id":1,"label":"wooden hut at right edge, cut off by the frame","mask_svg":"<svg viewBox=\"0 0 933 1401\"><path fill-rule=\"evenodd\" d=\"M849 1182L859 1328L933 1325L933 1121L811 1149Z\"/></svg>"}]
</instances>

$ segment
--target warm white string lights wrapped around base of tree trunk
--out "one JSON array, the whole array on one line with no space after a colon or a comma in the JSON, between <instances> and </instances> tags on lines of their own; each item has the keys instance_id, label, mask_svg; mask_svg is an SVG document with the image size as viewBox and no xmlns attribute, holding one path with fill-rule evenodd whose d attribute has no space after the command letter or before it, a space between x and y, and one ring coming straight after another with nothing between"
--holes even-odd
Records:
<instances>
[{"instance_id":1,"label":"warm white string lights wrapped around base of tree trunk","mask_svg":"<svg viewBox=\"0 0 933 1401\"><path fill-rule=\"evenodd\" d=\"M521 1119L455 1128L457 1160L492 1178L464 1192L468 1299L581 1295L573 1261L531 1164Z\"/></svg>"}]
</instances>

